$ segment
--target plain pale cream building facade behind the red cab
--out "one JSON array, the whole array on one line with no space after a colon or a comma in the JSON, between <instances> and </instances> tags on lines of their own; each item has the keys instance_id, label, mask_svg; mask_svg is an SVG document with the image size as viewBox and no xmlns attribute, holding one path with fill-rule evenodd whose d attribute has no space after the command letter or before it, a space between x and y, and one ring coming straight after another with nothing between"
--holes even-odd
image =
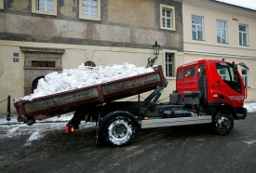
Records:
<instances>
[{"instance_id":1,"label":"plain pale cream building facade behind the red cab","mask_svg":"<svg viewBox=\"0 0 256 173\"><path fill-rule=\"evenodd\" d=\"M214 0L182 0L184 61L225 59L238 66L248 88L246 101L256 100L256 10ZM224 77L224 73L222 74Z\"/></svg>"}]
</instances>

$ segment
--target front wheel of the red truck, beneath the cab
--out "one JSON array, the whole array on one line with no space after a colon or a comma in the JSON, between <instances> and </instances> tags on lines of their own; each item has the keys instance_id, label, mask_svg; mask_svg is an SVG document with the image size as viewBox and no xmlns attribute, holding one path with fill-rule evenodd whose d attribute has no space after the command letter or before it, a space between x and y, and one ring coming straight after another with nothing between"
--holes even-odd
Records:
<instances>
[{"instance_id":1,"label":"front wheel of the red truck, beneath the cab","mask_svg":"<svg viewBox=\"0 0 256 173\"><path fill-rule=\"evenodd\" d=\"M213 120L214 131L218 135L227 135L232 131L234 119L228 111L216 113Z\"/></svg>"}]
</instances>

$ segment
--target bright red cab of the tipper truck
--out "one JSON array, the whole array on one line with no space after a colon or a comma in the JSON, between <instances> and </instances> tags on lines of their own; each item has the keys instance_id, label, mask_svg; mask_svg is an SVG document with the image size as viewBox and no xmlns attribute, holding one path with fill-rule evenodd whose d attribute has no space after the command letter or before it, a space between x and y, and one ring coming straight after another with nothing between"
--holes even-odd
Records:
<instances>
[{"instance_id":1,"label":"bright red cab of the tipper truck","mask_svg":"<svg viewBox=\"0 0 256 173\"><path fill-rule=\"evenodd\" d=\"M220 107L232 110L235 119L244 119L243 109L247 98L244 85L235 62L224 60L196 60L178 67L176 89L184 99L184 93L199 91L199 105L214 114Z\"/></svg>"}]
</instances>

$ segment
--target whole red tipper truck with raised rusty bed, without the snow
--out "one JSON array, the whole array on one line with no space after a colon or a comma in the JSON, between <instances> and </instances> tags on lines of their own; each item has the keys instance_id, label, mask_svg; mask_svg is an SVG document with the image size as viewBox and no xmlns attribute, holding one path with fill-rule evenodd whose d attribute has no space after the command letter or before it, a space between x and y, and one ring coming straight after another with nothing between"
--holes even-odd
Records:
<instances>
[{"instance_id":1,"label":"whole red tipper truck with raised rusty bed, without the snow","mask_svg":"<svg viewBox=\"0 0 256 173\"><path fill-rule=\"evenodd\" d=\"M128 144L135 128L209 124L220 135L229 134L234 119L245 119L247 98L235 62L196 60L177 69L176 90L168 102L157 102L168 82L161 66L106 84L79 88L34 100L14 103L19 119L34 124L34 116L74 112L67 132L79 128L81 120L97 122L96 141L114 146ZM239 63L248 68L244 63ZM155 90L154 90L155 89ZM154 90L143 101L115 101Z\"/></svg>"}]
</instances>

